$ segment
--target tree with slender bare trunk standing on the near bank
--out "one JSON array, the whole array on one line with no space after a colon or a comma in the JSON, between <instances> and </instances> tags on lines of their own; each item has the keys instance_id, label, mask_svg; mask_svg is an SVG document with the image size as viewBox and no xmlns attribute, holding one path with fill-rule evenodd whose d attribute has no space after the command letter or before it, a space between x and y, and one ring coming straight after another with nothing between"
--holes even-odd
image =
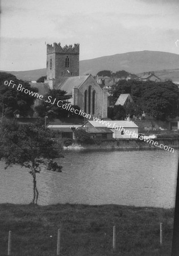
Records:
<instances>
[{"instance_id":1,"label":"tree with slender bare trunk standing on the near bank","mask_svg":"<svg viewBox=\"0 0 179 256\"><path fill-rule=\"evenodd\" d=\"M38 203L38 188L36 174L41 168L61 172L61 166L54 162L55 158L62 158L61 146L52 139L53 133L44 126L28 124L23 126L3 123L1 125L1 155L5 159L5 168L18 164L30 170L33 179L32 203Z\"/></svg>"}]
</instances>

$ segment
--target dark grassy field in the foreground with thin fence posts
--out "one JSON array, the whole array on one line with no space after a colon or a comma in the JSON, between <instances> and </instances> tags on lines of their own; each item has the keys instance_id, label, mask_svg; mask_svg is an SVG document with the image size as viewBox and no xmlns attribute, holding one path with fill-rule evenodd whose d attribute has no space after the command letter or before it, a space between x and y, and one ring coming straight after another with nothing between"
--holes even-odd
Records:
<instances>
[{"instance_id":1,"label":"dark grassy field in the foreground with thin fence posts","mask_svg":"<svg viewBox=\"0 0 179 256\"><path fill-rule=\"evenodd\" d=\"M48 206L0 205L0 255L56 255L57 230L61 228L60 255L170 255L173 209L120 205ZM160 246L160 222L163 245ZM116 251L113 226L116 226Z\"/></svg>"}]
</instances>

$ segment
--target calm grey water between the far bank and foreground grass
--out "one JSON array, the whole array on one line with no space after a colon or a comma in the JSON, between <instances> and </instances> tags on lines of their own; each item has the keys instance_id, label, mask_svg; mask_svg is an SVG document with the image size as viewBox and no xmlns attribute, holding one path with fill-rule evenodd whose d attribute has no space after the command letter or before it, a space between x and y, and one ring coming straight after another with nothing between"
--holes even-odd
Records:
<instances>
[{"instance_id":1,"label":"calm grey water between the far bank and foreground grass","mask_svg":"<svg viewBox=\"0 0 179 256\"><path fill-rule=\"evenodd\" d=\"M122 204L174 207L178 152L65 152L63 172L37 175L39 204ZM28 169L5 170L0 162L0 203L27 204L32 199Z\"/></svg>"}]
</instances>

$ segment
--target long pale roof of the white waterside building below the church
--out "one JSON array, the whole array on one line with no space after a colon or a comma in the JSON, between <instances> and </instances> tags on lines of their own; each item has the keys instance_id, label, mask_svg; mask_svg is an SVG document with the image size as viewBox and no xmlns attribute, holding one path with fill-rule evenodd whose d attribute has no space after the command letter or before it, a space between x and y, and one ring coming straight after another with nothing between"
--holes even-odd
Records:
<instances>
[{"instance_id":1,"label":"long pale roof of the white waterside building below the church","mask_svg":"<svg viewBox=\"0 0 179 256\"><path fill-rule=\"evenodd\" d=\"M132 121L87 121L94 127L107 127L108 129L114 129L115 126L124 128L138 128L138 126ZM87 123L86 122L86 123ZM114 127L113 127L114 126Z\"/></svg>"}]
</instances>

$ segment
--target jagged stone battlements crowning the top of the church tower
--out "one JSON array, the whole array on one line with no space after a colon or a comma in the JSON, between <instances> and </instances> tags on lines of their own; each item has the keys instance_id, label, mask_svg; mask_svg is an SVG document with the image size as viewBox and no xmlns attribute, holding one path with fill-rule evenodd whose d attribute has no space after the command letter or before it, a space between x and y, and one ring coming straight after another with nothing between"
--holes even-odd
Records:
<instances>
[{"instance_id":1,"label":"jagged stone battlements crowning the top of the church tower","mask_svg":"<svg viewBox=\"0 0 179 256\"><path fill-rule=\"evenodd\" d=\"M47 44L47 54L51 53L80 53L80 44L70 44L69 46L61 47L60 43Z\"/></svg>"}]
</instances>

